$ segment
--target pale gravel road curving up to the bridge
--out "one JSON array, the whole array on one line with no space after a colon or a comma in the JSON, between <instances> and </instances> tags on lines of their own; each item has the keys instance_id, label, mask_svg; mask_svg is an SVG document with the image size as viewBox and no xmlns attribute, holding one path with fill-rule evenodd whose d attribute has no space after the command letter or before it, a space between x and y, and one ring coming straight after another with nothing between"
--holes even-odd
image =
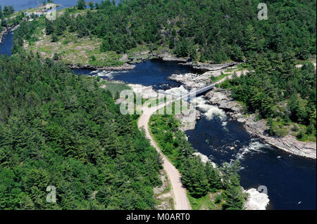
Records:
<instances>
[{"instance_id":1,"label":"pale gravel road curving up to the bridge","mask_svg":"<svg viewBox=\"0 0 317 224\"><path fill-rule=\"evenodd\" d=\"M144 128L145 134L147 138L149 138L151 145L153 145L159 154L161 154L161 157L163 159L163 169L166 171L168 175L168 179L170 180L170 185L173 192L173 199L174 199L174 208L175 210L191 210L192 207L189 204L189 200L187 198L186 189L182 185L182 182L180 180L180 172L178 169L171 164L166 156L161 152L159 146L156 144L155 140L152 138L152 136L149 133L149 119L154 112L159 110L162 107L165 107L166 104L163 103L161 105L158 105L156 107L147 107L144 106L142 108L143 113L141 117L139 117L139 121L137 122L137 126L139 128Z\"/></svg>"}]
</instances>

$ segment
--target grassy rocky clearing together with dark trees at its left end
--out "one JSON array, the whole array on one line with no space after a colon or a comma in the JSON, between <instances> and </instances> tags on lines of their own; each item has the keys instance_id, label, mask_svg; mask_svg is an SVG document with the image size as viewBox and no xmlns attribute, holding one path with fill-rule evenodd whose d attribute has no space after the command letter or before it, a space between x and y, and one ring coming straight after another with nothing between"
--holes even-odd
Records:
<instances>
[{"instance_id":1,"label":"grassy rocky clearing together with dark trees at its left end","mask_svg":"<svg viewBox=\"0 0 317 224\"><path fill-rule=\"evenodd\" d=\"M54 32L54 22L44 17L32 22L20 22L14 35L13 53L25 48L27 51L39 52L41 58L54 58L56 53L68 65L92 65L96 67L120 66L124 62L122 55L108 51L100 51L101 39L98 37L78 38L75 33ZM46 29L45 29L46 28ZM48 34L48 35L45 35ZM23 45L23 40L26 43Z\"/></svg>"}]
</instances>

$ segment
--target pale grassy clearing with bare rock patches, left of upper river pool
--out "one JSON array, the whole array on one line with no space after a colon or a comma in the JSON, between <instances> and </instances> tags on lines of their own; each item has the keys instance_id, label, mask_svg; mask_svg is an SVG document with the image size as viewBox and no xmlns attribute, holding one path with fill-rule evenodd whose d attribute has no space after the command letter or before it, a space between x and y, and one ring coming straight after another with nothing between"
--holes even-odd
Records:
<instances>
[{"instance_id":1,"label":"pale grassy clearing with bare rock patches, left of upper river pool","mask_svg":"<svg viewBox=\"0 0 317 224\"><path fill-rule=\"evenodd\" d=\"M27 41L24 48L27 51L39 52L42 58L58 58L69 65L92 65L96 67L120 66L124 62L119 61L122 55L109 51L101 52L101 39L97 37L78 38L76 34L64 32L58 37L57 42L52 42L51 35L45 34L45 18L38 18L34 39Z\"/></svg>"}]
</instances>

